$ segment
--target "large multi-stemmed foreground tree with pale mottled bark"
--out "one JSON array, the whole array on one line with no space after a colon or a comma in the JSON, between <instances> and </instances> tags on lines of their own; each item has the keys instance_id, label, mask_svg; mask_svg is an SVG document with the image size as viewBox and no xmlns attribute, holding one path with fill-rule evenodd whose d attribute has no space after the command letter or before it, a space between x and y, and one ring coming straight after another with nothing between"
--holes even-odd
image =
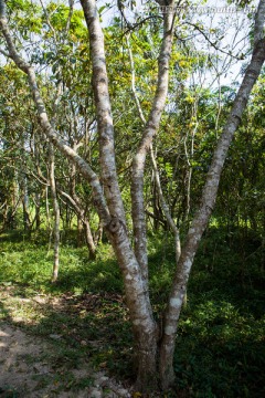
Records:
<instances>
[{"instance_id":1,"label":"large multi-stemmed foreground tree with pale mottled bark","mask_svg":"<svg viewBox=\"0 0 265 398\"><path fill-rule=\"evenodd\" d=\"M173 381L174 341L191 266L214 207L220 176L231 140L240 125L252 87L261 73L265 60L265 39L263 34L265 1L261 0L255 19L252 59L214 150L201 203L187 233L178 266L176 268L168 306L163 314L163 326L159 331L149 297L144 176L147 154L158 133L166 106L170 55L174 36L174 1L159 1L159 4L161 3L168 6L168 8L162 18L163 31L158 57L156 94L140 142L134 154L131 167L131 217L134 226L134 248L131 248L117 175L104 34L96 10L96 2L94 0L81 0L89 32L100 177L54 130L45 109L42 93L38 86L34 69L19 55L6 18L4 1L0 1L0 29L7 44L7 50L1 50L1 53L12 59L17 66L26 74L38 109L40 125L46 138L78 168L82 176L91 185L94 205L117 256L124 277L126 301L134 331L137 356L136 388L141 391L155 389L158 379L163 389L167 389Z\"/></svg>"}]
</instances>

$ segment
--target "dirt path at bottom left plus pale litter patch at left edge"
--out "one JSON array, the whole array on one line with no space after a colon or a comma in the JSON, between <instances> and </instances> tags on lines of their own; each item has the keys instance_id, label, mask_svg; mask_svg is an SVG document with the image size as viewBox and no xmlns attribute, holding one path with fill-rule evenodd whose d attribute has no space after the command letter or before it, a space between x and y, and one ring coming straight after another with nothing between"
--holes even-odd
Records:
<instances>
[{"instance_id":1,"label":"dirt path at bottom left plus pale litter patch at left edge","mask_svg":"<svg viewBox=\"0 0 265 398\"><path fill-rule=\"evenodd\" d=\"M14 307L14 302L10 304L9 292L10 290L2 289L0 298L10 310L11 305ZM45 301L40 296L18 300L21 305L28 306L38 300ZM1 398L131 396L129 390L109 377L104 368L96 371L83 359L76 364L64 358L64 350L59 347L60 335L40 337L21 327L24 320L18 314L18 302L17 312L12 314L12 317L4 316L0 321Z\"/></svg>"}]
</instances>

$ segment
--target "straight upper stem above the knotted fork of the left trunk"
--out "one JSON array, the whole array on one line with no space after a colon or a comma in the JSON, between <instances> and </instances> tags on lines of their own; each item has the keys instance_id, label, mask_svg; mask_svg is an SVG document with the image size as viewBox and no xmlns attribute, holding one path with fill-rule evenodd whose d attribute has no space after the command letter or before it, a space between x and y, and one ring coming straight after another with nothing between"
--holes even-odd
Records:
<instances>
[{"instance_id":1,"label":"straight upper stem above the knotted fork of the left trunk","mask_svg":"<svg viewBox=\"0 0 265 398\"><path fill-rule=\"evenodd\" d=\"M107 199L110 214L125 221L124 205L119 191L115 163L114 125L108 93L104 34L97 15L95 1L81 0L81 3L89 31L93 91L97 113L97 130L99 135L99 157L104 193Z\"/></svg>"}]
</instances>

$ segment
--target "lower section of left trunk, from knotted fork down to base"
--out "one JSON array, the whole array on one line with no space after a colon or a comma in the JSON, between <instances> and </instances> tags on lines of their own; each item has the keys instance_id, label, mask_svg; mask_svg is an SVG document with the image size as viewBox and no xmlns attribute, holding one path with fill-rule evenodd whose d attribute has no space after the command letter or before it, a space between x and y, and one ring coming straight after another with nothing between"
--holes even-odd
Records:
<instances>
[{"instance_id":1,"label":"lower section of left trunk, from knotted fork down to base","mask_svg":"<svg viewBox=\"0 0 265 398\"><path fill-rule=\"evenodd\" d=\"M146 294L146 284L124 222L118 218L113 218L107 227L107 234L123 273L126 304L132 324L137 364L135 388L138 391L150 391L158 385L158 326L153 320L150 300Z\"/></svg>"}]
</instances>

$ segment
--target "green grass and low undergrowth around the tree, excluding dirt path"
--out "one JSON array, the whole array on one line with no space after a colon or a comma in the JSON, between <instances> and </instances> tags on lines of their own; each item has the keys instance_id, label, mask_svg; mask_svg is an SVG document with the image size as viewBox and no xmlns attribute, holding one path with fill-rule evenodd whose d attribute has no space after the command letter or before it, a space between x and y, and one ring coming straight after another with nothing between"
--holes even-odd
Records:
<instances>
[{"instance_id":1,"label":"green grass and low undergrowth around the tree, excluding dirt path","mask_svg":"<svg viewBox=\"0 0 265 398\"><path fill-rule=\"evenodd\" d=\"M54 366L63 363L71 369L88 360L97 369L107 368L116 377L128 379L131 333L112 249L99 247L96 261L88 261L85 249L70 241L63 244L60 282L52 285L52 253L46 252L43 237L26 241L8 234L1 240L0 283L9 293L0 316L20 320L38 335L59 336ZM167 235L150 239L156 316L170 289L171 248ZM181 314L174 357L177 384L168 397L265 396L263 256L258 237L245 237L241 231L231 237L218 228L208 231ZM35 303L35 296L45 303ZM71 384L71 375L68 378Z\"/></svg>"}]
</instances>

